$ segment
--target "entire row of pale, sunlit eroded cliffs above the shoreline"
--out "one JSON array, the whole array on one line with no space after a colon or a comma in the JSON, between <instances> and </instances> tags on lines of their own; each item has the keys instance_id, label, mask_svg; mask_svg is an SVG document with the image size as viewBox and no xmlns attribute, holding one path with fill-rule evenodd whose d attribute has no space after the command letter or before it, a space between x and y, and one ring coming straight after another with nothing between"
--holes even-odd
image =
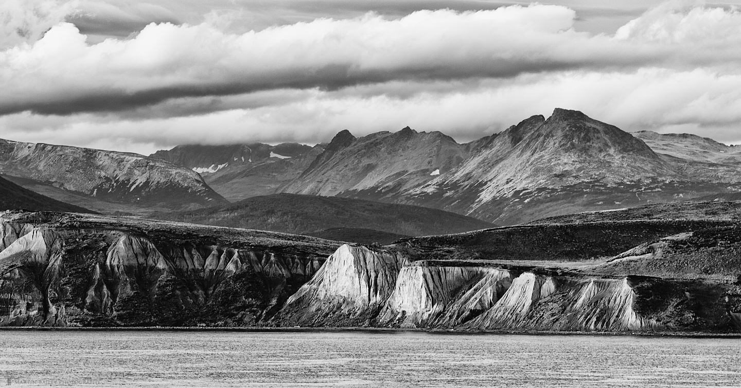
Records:
<instances>
[{"instance_id":1,"label":"entire row of pale, sunlit eroded cliffs above the shoreline","mask_svg":"<svg viewBox=\"0 0 741 388\"><path fill-rule=\"evenodd\" d=\"M404 261L393 259L390 253L344 246L289 299L281 322L462 330L661 328L634 310L636 294L625 278L584 279L534 272L512 278L508 270L493 267L439 266L425 261L396 267ZM374 277L383 279L375 287L368 282ZM393 292L376 288L389 287L392 282Z\"/></svg>"}]
</instances>

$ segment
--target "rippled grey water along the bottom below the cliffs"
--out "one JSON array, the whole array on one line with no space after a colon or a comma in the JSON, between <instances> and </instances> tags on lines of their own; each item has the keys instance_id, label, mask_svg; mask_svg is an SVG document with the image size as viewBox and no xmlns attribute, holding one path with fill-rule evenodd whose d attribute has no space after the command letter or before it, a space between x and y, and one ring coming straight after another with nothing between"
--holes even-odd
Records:
<instances>
[{"instance_id":1,"label":"rippled grey water along the bottom below the cliffs","mask_svg":"<svg viewBox=\"0 0 741 388\"><path fill-rule=\"evenodd\" d=\"M741 339L0 331L0 387L740 387Z\"/></svg>"}]
</instances>

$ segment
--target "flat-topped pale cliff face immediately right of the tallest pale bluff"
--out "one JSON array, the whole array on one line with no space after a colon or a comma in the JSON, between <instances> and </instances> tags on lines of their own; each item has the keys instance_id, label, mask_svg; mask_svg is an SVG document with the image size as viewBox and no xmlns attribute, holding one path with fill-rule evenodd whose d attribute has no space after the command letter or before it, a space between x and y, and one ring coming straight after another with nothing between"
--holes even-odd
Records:
<instances>
[{"instance_id":1,"label":"flat-topped pale cliff face immediately right of the tallest pale bluff","mask_svg":"<svg viewBox=\"0 0 741 388\"><path fill-rule=\"evenodd\" d=\"M450 305L461 290L471 283L478 284L483 278L499 277L502 272L493 268L428 267L419 263L403 267L379 316L379 323L401 327L431 324L433 318L443 312L452 312ZM496 300L496 295L491 295L496 291L481 288L477 295L468 295L465 302L456 303L456 308L466 308L469 303L486 303L487 298ZM493 288L496 289L496 285Z\"/></svg>"}]
</instances>

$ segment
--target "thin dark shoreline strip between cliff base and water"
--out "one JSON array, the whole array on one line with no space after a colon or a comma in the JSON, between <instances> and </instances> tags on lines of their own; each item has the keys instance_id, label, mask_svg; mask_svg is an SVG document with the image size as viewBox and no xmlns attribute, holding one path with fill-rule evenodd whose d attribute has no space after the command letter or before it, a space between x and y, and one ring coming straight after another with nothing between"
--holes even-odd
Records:
<instances>
[{"instance_id":1,"label":"thin dark shoreline strip between cliff base and water","mask_svg":"<svg viewBox=\"0 0 741 388\"><path fill-rule=\"evenodd\" d=\"M432 335L598 335L598 336L633 336L664 338L741 338L741 332L586 332L586 331L551 331L551 330L442 330L425 328L399 327L43 327L43 326L6 326L3 331L47 331L47 332L368 332L397 333L424 332Z\"/></svg>"}]
</instances>

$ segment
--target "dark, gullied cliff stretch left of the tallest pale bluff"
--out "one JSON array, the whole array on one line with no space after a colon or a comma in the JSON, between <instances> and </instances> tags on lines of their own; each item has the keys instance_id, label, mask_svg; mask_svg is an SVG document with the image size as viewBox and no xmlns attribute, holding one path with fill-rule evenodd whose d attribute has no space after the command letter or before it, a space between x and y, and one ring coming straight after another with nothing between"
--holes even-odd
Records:
<instances>
[{"instance_id":1,"label":"dark, gullied cliff stretch left of the tallest pale bluff","mask_svg":"<svg viewBox=\"0 0 741 388\"><path fill-rule=\"evenodd\" d=\"M69 227L15 216L0 216L0 325L260 324L334 245L223 244L187 229Z\"/></svg>"}]
</instances>

